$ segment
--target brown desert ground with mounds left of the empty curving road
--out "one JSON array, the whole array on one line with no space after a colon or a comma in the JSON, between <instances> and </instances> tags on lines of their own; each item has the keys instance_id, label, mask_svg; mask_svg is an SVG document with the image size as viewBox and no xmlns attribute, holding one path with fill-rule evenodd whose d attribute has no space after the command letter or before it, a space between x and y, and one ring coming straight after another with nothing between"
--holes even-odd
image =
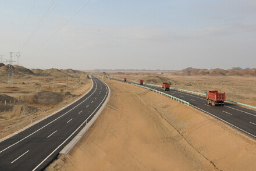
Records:
<instances>
[{"instance_id":1,"label":"brown desert ground with mounds left of the empty curving road","mask_svg":"<svg viewBox=\"0 0 256 171\"><path fill-rule=\"evenodd\" d=\"M0 138L58 111L91 88L84 72L22 66L13 66L12 87L9 65L0 66Z\"/></svg>"}]
</instances>

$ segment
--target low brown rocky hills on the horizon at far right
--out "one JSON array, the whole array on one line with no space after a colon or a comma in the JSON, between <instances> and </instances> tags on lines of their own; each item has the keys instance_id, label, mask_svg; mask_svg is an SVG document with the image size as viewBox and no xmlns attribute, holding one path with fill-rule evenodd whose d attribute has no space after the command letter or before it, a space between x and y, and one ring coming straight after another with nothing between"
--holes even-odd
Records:
<instances>
[{"instance_id":1,"label":"low brown rocky hills on the horizon at far right","mask_svg":"<svg viewBox=\"0 0 256 171\"><path fill-rule=\"evenodd\" d=\"M187 67L173 73L180 76L256 76L256 68L241 69L241 67L233 67L232 69L195 69Z\"/></svg>"}]
</instances>

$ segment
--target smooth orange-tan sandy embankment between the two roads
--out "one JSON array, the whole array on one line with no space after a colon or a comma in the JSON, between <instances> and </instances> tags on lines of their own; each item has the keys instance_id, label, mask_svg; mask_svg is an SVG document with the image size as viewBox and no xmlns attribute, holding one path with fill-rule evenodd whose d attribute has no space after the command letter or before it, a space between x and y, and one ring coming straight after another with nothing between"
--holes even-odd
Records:
<instances>
[{"instance_id":1,"label":"smooth orange-tan sandy embankment between the two roads","mask_svg":"<svg viewBox=\"0 0 256 171\"><path fill-rule=\"evenodd\" d=\"M255 140L193 108L106 81L111 98L68 155L47 170L254 170Z\"/></svg>"}]
</instances>

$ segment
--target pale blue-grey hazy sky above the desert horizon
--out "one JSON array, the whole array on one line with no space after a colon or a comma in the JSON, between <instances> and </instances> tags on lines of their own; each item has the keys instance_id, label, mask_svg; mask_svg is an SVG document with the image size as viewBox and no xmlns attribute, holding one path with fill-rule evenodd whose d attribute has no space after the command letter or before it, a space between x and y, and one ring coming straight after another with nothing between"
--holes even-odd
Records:
<instances>
[{"instance_id":1,"label":"pale blue-grey hazy sky above the desert horizon","mask_svg":"<svg viewBox=\"0 0 256 171\"><path fill-rule=\"evenodd\" d=\"M2 0L9 51L41 69L256 67L256 1Z\"/></svg>"}]
</instances>

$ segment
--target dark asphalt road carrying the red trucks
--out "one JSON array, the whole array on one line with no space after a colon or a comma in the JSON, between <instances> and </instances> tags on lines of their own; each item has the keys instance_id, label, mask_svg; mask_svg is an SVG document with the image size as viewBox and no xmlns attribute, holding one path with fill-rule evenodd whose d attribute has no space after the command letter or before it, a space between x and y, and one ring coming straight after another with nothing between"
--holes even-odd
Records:
<instances>
[{"instance_id":1,"label":"dark asphalt road carrying the red trucks","mask_svg":"<svg viewBox=\"0 0 256 171\"><path fill-rule=\"evenodd\" d=\"M114 79L117 80L117 79ZM122 81L122 80L118 80ZM124 82L124 81L122 81ZM130 83L130 82L127 82ZM143 85L152 89L163 91L161 87L154 87L150 85ZM205 112L216 119L229 124L235 129L247 134L250 137L256 138L256 112L250 109L242 108L240 106L225 103L224 106L212 106L207 104L206 97L190 94L187 92L180 92L177 90L163 91L174 97L183 99L190 103L195 109Z\"/></svg>"}]
</instances>

